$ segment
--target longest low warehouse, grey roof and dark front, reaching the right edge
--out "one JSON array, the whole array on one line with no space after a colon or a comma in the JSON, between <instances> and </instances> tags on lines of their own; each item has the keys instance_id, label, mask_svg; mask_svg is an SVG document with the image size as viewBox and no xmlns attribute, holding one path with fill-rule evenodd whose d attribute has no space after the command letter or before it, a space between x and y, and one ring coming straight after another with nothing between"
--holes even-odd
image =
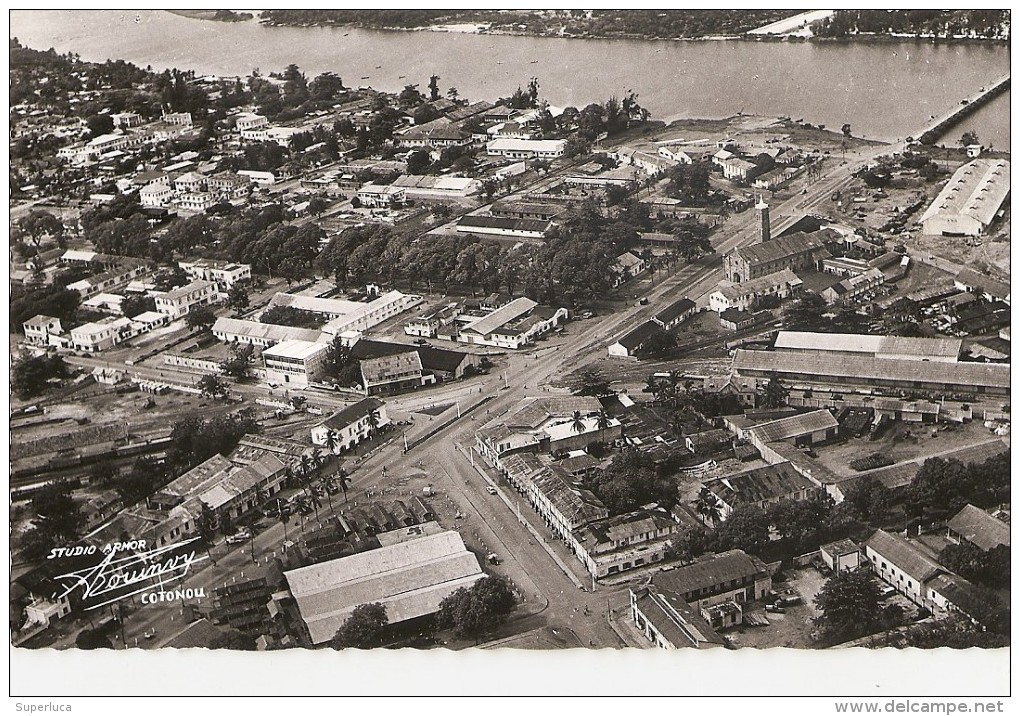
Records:
<instances>
[{"instance_id":1,"label":"longest low warehouse, grey roof and dark front, reaching the right edge","mask_svg":"<svg viewBox=\"0 0 1020 716\"><path fill-rule=\"evenodd\" d=\"M1010 395L1010 366L1001 363L944 363L869 355L801 355L737 350L733 370L740 375L785 385L824 387L837 392L874 391L898 397Z\"/></svg>"}]
</instances>

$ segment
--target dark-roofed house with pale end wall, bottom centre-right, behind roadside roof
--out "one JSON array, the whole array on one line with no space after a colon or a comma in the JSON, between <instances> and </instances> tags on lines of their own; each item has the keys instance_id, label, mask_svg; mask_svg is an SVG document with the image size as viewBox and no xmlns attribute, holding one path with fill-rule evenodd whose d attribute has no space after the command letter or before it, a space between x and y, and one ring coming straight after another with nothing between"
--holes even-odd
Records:
<instances>
[{"instance_id":1,"label":"dark-roofed house with pale end wall, bottom centre-right, behind roadside roof","mask_svg":"<svg viewBox=\"0 0 1020 716\"><path fill-rule=\"evenodd\" d=\"M772 577L754 555L729 550L658 572L651 583L701 610L725 602L742 605L762 600L772 589Z\"/></svg>"}]
</instances>

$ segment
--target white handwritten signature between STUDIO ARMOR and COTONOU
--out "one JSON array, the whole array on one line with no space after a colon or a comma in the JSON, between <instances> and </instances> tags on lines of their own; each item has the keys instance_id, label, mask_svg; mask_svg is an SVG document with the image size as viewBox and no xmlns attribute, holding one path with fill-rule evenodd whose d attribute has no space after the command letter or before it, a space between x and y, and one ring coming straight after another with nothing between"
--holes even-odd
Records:
<instances>
[{"instance_id":1,"label":"white handwritten signature between STUDIO ARMOR and COTONOU","mask_svg":"<svg viewBox=\"0 0 1020 716\"><path fill-rule=\"evenodd\" d=\"M197 557L194 550L181 552L183 547L197 540L199 538L193 538L185 542L119 558L115 558L116 553L110 552L102 562L94 567L58 575L57 579L73 580L73 583L60 595L60 598L62 599L74 590L81 589L82 601L86 602L90 599L101 599L111 592L119 593L122 590L140 585L134 592L117 594L112 599L86 607L85 609L88 611L147 592L155 585L153 580L158 581L159 587L162 589L166 584L188 576L193 564L208 559L208 556ZM176 554L170 554L171 552Z\"/></svg>"}]
</instances>

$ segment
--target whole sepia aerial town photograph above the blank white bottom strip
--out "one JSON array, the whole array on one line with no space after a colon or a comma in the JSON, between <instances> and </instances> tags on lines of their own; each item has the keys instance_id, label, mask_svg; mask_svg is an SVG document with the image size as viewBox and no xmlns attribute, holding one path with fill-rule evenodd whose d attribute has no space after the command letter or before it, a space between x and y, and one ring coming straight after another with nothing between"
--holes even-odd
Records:
<instances>
[{"instance_id":1,"label":"whole sepia aerial town photograph above the blank white bottom strip","mask_svg":"<svg viewBox=\"0 0 1020 716\"><path fill-rule=\"evenodd\" d=\"M1008 670L1010 19L12 10L12 659Z\"/></svg>"}]
</instances>

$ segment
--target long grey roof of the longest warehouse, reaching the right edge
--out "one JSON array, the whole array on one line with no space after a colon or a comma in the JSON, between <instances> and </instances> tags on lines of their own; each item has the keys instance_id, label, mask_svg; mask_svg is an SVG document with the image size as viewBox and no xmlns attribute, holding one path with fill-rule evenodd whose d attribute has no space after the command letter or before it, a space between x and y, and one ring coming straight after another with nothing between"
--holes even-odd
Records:
<instances>
[{"instance_id":1,"label":"long grey roof of the longest warehouse, reaching the right edge","mask_svg":"<svg viewBox=\"0 0 1020 716\"><path fill-rule=\"evenodd\" d=\"M816 379L857 378L899 380L967 388L1010 387L1010 366L999 363L944 363L867 355L815 355L737 349L733 370L738 373L797 373Z\"/></svg>"}]
</instances>

